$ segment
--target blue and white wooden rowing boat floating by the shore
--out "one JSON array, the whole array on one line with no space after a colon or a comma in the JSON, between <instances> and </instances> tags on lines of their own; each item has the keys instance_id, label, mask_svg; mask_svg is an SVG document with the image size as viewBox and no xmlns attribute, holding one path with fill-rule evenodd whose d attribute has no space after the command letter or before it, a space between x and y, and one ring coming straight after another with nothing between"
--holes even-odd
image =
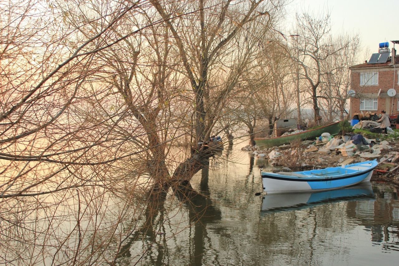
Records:
<instances>
[{"instance_id":1,"label":"blue and white wooden rowing boat floating by the shore","mask_svg":"<svg viewBox=\"0 0 399 266\"><path fill-rule=\"evenodd\" d=\"M271 193L314 192L369 182L377 161L301 172L261 172L263 191Z\"/></svg>"}]
</instances>

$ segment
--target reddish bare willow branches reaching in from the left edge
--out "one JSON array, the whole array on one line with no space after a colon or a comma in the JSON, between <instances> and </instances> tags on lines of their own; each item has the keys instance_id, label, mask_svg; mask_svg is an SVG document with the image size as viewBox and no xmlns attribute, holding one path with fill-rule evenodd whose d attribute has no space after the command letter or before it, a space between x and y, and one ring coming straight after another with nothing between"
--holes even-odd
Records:
<instances>
[{"instance_id":1,"label":"reddish bare willow branches reaching in from the left edge","mask_svg":"<svg viewBox=\"0 0 399 266\"><path fill-rule=\"evenodd\" d=\"M131 195L150 200L140 182L150 160L140 112L118 104L121 74L109 82L102 55L150 24L118 34L145 9L137 2L103 2L100 16L90 2L39 4L0 4L1 261L114 261L122 244L111 240L128 235L118 228L145 211Z\"/></svg>"}]
</instances>

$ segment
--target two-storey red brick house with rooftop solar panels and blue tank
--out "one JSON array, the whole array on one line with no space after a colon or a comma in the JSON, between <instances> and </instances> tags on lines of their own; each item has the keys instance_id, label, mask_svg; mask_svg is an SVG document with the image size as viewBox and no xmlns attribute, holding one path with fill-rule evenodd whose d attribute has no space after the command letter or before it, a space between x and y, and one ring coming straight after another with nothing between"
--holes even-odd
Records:
<instances>
[{"instance_id":1,"label":"two-storey red brick house with rooftop solar panels and blue tank","mask_svg":"<svg viewBox=\"0 0 399 266\"><path fill-rule=\"evenodd\" d=\"M351 66L350 118L356 113L370 111L380 114L399 113L399 56L396 55L395 44L399 41L379 44L378 53L363 64ZM393 56L392 56L393 55ZM394 91L393 91L393 90ZM398 93L395 94L395 91ZM395 94L395 96L390 96Z\"/></svg>"}]
</instances>

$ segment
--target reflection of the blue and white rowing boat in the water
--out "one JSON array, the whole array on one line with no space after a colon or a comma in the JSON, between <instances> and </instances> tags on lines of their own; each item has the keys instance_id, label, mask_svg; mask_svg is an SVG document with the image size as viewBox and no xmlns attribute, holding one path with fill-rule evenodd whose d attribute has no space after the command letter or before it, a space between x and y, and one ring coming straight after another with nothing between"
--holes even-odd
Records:
<instances>
[{"instance_id":1,"label":"reflection of the blue and white rowing boat in the water","mask_svg":"<svg viewBox=\"0 0 399 266\"><path fill-rule=\"evenodd\" d=\"M344 189L320 191L313 193L279 193L267 194L262 199L261 214L286 210L300 210L333 201L352 201L373 199L371 183L361 183Z\"/></svg>"}]
</instances>

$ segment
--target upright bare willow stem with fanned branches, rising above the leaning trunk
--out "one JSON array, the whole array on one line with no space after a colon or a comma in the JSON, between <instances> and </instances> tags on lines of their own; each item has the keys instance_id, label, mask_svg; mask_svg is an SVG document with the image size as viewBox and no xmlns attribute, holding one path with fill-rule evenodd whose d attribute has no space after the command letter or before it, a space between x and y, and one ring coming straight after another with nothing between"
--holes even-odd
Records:
<instances>
[{"instance_id":1,"label":"upright bare willow stem with fanned branches, rising above the leaning trunk","mask_svg":"<svg viewBox=\"0 0 399 266\"><path fill-rule=\"evenodd\" d=\"M264 0L150 2L173 34L174 46L195 99L196 141L204 141L212 134L226 99L234 93L243 67L250 63L251 53L240 55L235 40L253 23L270 25L271 14L280 3L272 5ZM178 17L178 10L188 9L198 12ZM221 72L225 72L225 79L215 82L213 77L222 76Z\"/></svg>"}]
</instances>

